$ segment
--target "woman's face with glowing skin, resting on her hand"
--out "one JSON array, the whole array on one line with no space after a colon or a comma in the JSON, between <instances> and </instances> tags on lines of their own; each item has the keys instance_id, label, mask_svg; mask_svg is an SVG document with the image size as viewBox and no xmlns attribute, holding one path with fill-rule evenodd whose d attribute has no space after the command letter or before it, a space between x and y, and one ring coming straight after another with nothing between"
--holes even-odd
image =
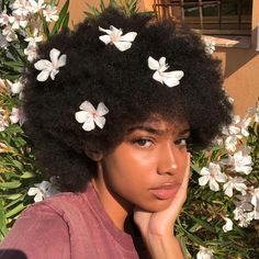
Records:
<instances>
[{"instance_id":1,"label":"woman's face with glowing skin, resting on her hand","mask_svg":"<svg viewBox=\"0 0 259 259\"><path fill-rule=\"evenodd\" d=\"M95 188L105 207L165 210L187 169L187 123L151 120L128 128L124 140L99 161Z\"/></svg>"}]
</instances>

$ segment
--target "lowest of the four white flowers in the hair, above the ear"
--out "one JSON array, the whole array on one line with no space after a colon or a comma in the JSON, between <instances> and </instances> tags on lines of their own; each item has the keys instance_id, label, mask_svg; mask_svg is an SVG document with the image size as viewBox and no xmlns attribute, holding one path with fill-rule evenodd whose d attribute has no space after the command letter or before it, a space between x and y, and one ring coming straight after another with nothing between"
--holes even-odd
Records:
<instances>
[{"instance_id":1,"label":"lowest of the four white flowers in the hair, above the ear","mask_svg":"<svg viewBox=\"0 0 259 259\"><path fill-rule=\"evenodd\" d=\"M86 132L90 132L95 128L95 124L103 128L105 124L104 115L109 113L108 108L104 105L103 102L98 104L98 109L95 110L94 106L89 102L85 101L79 106L81 111L76 112L75 116L79 123L82 124L82 128Z\"/></svg>"}]
</instances>

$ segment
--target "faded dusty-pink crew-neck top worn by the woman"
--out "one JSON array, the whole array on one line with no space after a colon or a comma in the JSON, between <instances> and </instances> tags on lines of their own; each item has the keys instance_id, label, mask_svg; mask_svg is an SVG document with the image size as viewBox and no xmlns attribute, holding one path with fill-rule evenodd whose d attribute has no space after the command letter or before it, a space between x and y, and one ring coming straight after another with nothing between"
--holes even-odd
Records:
<instances>
[{"instance_id":1,"label":"faded dusty-pink crew-neck top worn by the woman","mask_svg":"<svg viewBox=\"0 0 259 259\"><path fill-rule=\"evenodd\" d=\"M60 193L22 212L0 245L0 258L148 258L140 238L134 240L115 227L89 185L86 192ZM22 252L18 257L7 249Z\"/></svg>"}]
</instances>

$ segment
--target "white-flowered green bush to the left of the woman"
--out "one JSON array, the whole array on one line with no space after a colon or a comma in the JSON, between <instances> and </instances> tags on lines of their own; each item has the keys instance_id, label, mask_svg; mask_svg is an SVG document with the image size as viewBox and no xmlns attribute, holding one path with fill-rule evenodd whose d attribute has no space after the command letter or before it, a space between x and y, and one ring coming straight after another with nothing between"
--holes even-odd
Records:
<instances>
[{"instance_id":1,"label":"white-flowered green bush to the left of the woman","mask_svg":"<svg viewBox=\"0 0 259 259\"><path fill-rule=\"evenodd\" d=\"M23 68L35 59L37 44L66 27L69 1L57 13L56 1L3 0L0 14L0 239L19 213L34 200L54 193L34 167L30 139L23 132ZM42 182L37 184L38 182ZM37 188L33 189L33 185ZM30 189L30 187L32 189ZM30 191L29 191L30 189Z\"/></svg>"}]
</instances>

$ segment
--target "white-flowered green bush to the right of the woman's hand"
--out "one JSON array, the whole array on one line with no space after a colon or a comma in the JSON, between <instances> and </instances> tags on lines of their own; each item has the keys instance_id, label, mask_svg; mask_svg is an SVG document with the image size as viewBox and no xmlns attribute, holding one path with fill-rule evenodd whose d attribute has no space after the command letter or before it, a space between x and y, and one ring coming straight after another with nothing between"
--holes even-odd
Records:
<instances>
[{"instance_id":1,"label":"white-flowered green bush to the right of the woman's hand","mask_svg":"<svg viewBox=\"0 0 259 259\"><path fill-rule=\"evenodd\" d=\"M256 258L259 229L259 101L192 153L188 201L177 232L190 258ZM199 252L196 254L196 250Z\"/></svg>"}]
</instances>

